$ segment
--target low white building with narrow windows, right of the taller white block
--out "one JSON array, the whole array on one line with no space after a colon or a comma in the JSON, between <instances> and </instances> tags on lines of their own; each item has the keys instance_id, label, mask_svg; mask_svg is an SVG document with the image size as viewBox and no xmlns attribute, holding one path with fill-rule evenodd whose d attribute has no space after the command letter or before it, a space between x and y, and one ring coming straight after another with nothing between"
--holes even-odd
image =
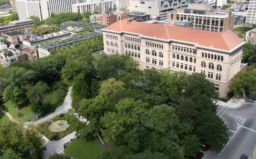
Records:
<instances>
[{"instance_id":1,"label":"low white building with narrow windows, right of the taller white block","mask_svg":"<svg viewBox=\"0 0 256 159\"><path fill-rule=\"evenodd\" d=\"M108 11L108 8L114 8L114 0L87 0L85 3L72 4L72 12L81 13L89 11L99 11L100 13Z\"/></svg>"}]
</instances>

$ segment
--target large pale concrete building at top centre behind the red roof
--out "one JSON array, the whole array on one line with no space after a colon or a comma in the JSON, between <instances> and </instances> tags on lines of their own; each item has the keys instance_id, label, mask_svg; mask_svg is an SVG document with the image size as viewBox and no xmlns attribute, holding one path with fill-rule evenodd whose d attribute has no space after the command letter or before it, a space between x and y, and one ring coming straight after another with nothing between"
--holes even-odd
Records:
<instances>
[{"instance_id":1,"label":"large pale concrete building at top centre behind the red roof","mask_svg":"<svg viewBox=\"0 0 256 159\"><path fill-rule=\"evenodd\" d=\"M130 0L130 11L146 12L151 16L167 19L167 13L175 8L188 6L187 0Z\"/></svg>"}]
</instances>

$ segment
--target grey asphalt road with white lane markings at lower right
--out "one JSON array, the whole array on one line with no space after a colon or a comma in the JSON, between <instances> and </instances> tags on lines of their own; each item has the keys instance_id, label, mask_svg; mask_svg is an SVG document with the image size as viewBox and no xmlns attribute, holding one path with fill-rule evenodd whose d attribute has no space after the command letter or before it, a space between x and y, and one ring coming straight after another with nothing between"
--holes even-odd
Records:
<instances>
[{"instance_id":1,"label":"grey asphalt road with white lane markings at lower right","mask_svg":"<svg viewBox=\"0 0 256 159\"><path fill-rule=\"evenodd\" d=\"M210 148L202 151L203 159L240 159L242 154L251 159L256 145L256 98L248 97L239 108L219 105L217 113L228 125L231 136L222 150Z\"/></svg>"}]
</instances>

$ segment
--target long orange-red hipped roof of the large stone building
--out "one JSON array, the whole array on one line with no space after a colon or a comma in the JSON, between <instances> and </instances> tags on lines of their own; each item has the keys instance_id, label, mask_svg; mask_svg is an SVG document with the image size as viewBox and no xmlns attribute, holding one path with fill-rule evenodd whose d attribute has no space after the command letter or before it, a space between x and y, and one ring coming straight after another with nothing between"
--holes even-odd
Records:
<instances>
[{"instance_id":1,"label":"long orange-red hipped roof of the large stone building","mask_svg":"<svg viewBox=\"0 0 256 159\"><path fill-rule=\"evenodd\" d=\"M142 23L131 21L127 24L127 20L119 20L114 24L107 26L104 30L116 32L130 32L140 34L152 38L163 40L176 40L189 43L195 43L197 46L210 47L221 50L232 50L238 45L244 43L231 30L224 32L211 32L198 29L190 29L174 26L172 23L163 25Z\"/></svg>"}]
</instances>

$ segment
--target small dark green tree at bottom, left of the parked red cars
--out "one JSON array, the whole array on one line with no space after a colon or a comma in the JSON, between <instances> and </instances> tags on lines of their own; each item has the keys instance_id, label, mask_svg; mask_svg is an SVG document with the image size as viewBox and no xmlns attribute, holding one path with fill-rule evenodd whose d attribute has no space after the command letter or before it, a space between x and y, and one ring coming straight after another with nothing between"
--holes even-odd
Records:
<instances>
[{"instance_id":1,"label":"small dark green tree at bottom, left of the parked red cars","mask_svg":"<svg viewBox=\"0 0 256 159\"><path fill-rule=\"evenodd\" d=\"M199 147L199 138L196 135L186 136L184 139L184 156L194 158L201 148Z\"/></svg>"}]
</instances>

